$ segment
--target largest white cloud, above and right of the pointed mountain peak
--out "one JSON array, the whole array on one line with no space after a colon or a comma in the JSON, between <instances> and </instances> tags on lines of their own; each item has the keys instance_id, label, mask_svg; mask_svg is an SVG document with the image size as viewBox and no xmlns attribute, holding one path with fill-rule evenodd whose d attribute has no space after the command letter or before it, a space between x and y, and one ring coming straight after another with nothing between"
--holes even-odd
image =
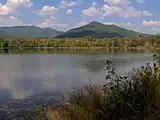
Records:
<instances>
[{"instance_id":1,"label":"largest white cloud, above and right of the pointed mountain peak","mask_svg":"<svg viewBox=\"0 0 160 120\"><path fill-rule=\"evenodd\" d=\"M146 10L137 10L134 8L131 0L104 0L104 2L106 4L101 7L91 5L89 8L82 10L82 15L88 17L111 15L120 17L152 16L152 13Z\"/></svg>"}]
</instances>

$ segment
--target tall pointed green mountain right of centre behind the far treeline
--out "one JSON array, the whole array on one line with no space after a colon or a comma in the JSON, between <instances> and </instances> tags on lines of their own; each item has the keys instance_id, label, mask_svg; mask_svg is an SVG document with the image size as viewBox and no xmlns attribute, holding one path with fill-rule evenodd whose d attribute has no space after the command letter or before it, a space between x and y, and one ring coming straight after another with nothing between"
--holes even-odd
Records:
<instances>
[{"instance_id":1,"label":"tall pointed green mountain right of centre behind the far treeline","mask_svg":"<svg viewBox=\"0 0 160 120\"><path fill-rule=\"evenodd\" d=\"M138 35L145 35L145 34L138 33L133 30L128 30L116 25L105 25L94 21L82 27L71 29L65 32L64 34L58 35L56 37L78 38L78 37L91 36L96 38L104 38L104 37L130 37Z\"/></svg>"}]
</instances>

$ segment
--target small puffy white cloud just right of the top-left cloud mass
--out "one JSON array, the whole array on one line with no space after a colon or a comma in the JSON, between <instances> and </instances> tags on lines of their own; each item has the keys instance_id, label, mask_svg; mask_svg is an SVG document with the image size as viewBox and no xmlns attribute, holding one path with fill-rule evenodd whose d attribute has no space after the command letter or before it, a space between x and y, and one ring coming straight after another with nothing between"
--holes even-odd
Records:
<instances>
[{"instance_id":1,"label":"small puffy white cloud just right of the top-left cloud mass","mask_svg":"<svg viewBox=\"0 0 160 120\"><path fill-rule=\"evenodd\" d=\"M53 15L55 14L57 11L57 8L55 8L54 6L48 6L45 5L42 7L42 9L38 12L38 15Z\"/></svg>"}]
</instances>

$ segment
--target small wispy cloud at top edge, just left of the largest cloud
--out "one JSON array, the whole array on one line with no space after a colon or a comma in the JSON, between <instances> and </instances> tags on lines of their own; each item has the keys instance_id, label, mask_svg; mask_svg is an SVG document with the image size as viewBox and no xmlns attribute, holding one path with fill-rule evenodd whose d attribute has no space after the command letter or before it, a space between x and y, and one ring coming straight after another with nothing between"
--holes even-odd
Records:
<instances>
[{"instance_id":1,"label":"small wispy cloud at top edge, just left of the largest cloud","mask_svg":"<svg viewBox=\"0 0 160 120\"><path fill-rule=\"evenodd\" d=\"M61 0L60 8L73 7L81 3L83 3L81 0Z\"/></svg>"}]
</instances>

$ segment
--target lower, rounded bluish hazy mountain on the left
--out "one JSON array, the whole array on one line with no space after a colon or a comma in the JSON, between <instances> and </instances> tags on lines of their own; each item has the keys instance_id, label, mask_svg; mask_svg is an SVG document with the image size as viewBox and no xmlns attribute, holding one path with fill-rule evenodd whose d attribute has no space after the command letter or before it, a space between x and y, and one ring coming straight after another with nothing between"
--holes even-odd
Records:
<instances>
[{"instance_id":1,"label":"lower, rounded bluish hazy mountain on the left","mask_svg":"<svg viewBox=\"0 0 160 120\"><path fill-rule=\"evenodd\" d=\"M0 27L0 31L13 37L25 38L55 37L63 33L52 28L39 28L36 26Z\"/></svg>"}]
</instances>

